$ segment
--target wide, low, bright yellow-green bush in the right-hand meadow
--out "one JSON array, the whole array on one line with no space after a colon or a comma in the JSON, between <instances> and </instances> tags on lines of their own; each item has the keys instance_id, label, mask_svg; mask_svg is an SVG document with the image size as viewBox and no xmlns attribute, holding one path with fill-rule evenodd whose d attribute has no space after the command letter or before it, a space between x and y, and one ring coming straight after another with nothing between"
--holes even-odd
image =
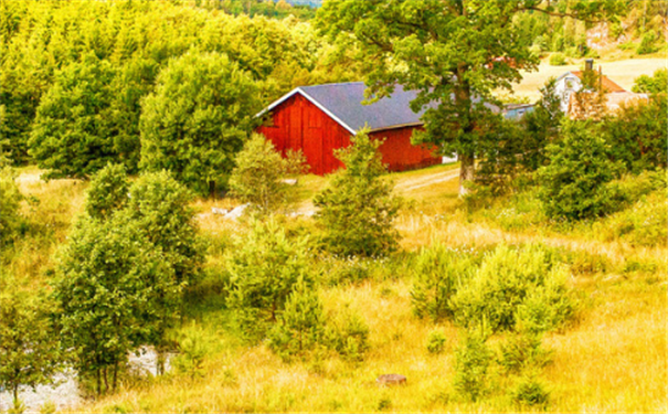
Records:
<instances>
[{"instance_id":1,"label":"wide, low, bright yellow-green bush in the right-hand meadow","mask_svg":"<svg viewBox=\"0 0 668 414\"><path fill-rule=\"evenodd\" d=\"M564 275L540 246L511 250L501 245L452 298L455 320L492 332L552 330L572 314ZM536 320L534 315L550 318Z\"/></svg>"}]
</instances>

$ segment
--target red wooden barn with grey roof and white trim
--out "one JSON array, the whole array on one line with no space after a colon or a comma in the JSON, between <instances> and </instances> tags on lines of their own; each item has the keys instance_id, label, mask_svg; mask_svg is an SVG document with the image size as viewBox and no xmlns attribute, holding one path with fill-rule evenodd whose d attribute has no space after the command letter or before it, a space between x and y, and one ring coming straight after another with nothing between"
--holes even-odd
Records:
<instances>
[{"instance_id":1,"label":"red wooden barn with grey roof and white trim","mask_svg":"<svg viewBox=\"0 0 668 414\"><path fill-rule=\"evenodd\" d=\"M298 87L269 105L269 121L257 131L285 155L303 150L310 172L326 174L342 167L333 150L350 145L350 137L367 126L369 136L384 139L380 147L390 171L403 171L441 163L433 147L414 146L411 136L422 126L420 114L409 104L415 92L397 86L391 97L371 105L364 100L364 83Z\"/></svg>"}]
</instances>

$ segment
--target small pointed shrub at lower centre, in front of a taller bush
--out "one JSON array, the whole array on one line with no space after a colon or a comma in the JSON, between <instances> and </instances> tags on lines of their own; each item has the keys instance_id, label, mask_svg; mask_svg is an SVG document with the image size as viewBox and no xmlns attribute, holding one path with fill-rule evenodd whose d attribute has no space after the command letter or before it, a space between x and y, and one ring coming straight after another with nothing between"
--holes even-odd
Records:
<instances>
[{"instance_id":1,"label":"small pointed shrub at lower centre, in front of a taller bush","mask_svg":"<svg viewBox=\"0 0 668 414\"><path fill-rule=\"evenodd\" d=\"M299 278L269 332L269 347L289 360L305 355L322 343L324 331L325 314L318 291Z\"/></svg>"}]
</instances>

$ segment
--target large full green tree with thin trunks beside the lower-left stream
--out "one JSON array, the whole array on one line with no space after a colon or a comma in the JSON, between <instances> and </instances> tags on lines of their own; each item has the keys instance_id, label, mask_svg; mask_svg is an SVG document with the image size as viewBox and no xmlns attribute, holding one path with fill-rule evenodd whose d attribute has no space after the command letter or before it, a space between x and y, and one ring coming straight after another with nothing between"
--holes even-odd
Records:
<instances>
[{"instance_id":1,"label":"large full green tree with thin trunks beside the lower-left stream","mask_svg":"<svg viewBox=\"0 0 668 414\"><path fill-rule=\"evenodd\" d=\"M63 344L73 349L79 375L95 380L98 395L114 391L128 352L161 330L162 304L173 302L182 285L162 252L120 214L77 222L56 275ZM178 311L167 315L174 318Z\"/></svg>"}]
</instances>

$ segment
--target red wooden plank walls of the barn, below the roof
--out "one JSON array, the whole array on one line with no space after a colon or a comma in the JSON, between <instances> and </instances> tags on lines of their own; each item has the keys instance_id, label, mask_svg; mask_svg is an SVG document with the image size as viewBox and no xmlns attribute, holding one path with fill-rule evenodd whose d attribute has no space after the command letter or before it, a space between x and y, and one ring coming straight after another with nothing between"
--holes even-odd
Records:
<instances>
[{"instance_id":1,"label":"red wooden plank walls of the barn, below the roof","mask_svg":"<svg viewBox=\"0 0 668 414\"><path fill-rule=\"evenodd\" d=\"M288 149L304 151L310 172L326 174L343 164L335 158L333 150L350 145L350 132L311 104L296 94L272 110L273 125L261 126L257 132L269 139L283 155ZM390 171L403 171L439 163L425 147L411 145L413 127L371 132L372 138L385 138L379 148Z\"/></svg>"}]
</instances>

